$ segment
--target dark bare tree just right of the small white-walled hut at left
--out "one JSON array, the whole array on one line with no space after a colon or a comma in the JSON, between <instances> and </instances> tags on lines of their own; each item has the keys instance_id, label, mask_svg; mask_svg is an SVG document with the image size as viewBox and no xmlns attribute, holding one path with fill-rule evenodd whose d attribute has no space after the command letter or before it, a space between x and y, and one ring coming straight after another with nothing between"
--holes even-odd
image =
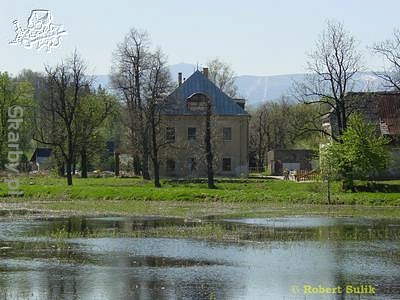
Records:
<instances>
[{"instance_id":1,"label":"dark bare tree just right of the small white-walled hut at left","mask_svg":"<svg viewBox=\"0 0 400 300\"><path fill-rule=\"evenodd\" d=\"M46 67L47 97L39 104L36 135L40 143L57 147L66 166L67 184L72 185L72 167L79 148L84 101L91 82L85 75L86 64L75 51L67 62Z\"/></svg>"}]
</instances>

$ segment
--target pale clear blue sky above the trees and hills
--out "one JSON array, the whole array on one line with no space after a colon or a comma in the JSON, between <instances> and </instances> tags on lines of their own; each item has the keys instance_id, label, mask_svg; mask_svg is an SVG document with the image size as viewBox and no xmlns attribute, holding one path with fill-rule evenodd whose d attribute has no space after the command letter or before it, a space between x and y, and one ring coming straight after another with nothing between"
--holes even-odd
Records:
<instances>
[{"instance_id":1,"label":"pale clear blue sky above the trees and hills","mask_svg":"<svg viewBox=\"0 0 400 300\"><path fill-rule=\"evenodd\" d=\"M34 9L51 12L66 35L50 53L9 44L14 20L26 27ZM204 65L215 57L237 75L279 75L306 72L307 53L328 20L342 22L359 43L368 70L382 68L382 59L368 47L391 38L400 27L398 0L113 0L0 2L0 72L43 71L74 49L90 74L108 74L112 52L132 27L147 30L170 65Z\"/></svg>"}]
</instances>

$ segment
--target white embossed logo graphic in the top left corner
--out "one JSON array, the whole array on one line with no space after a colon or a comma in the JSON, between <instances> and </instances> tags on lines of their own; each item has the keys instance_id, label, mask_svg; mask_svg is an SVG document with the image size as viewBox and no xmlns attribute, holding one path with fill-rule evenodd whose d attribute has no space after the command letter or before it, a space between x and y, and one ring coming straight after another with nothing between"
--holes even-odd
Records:
<instances>
[{"instance_id":1,"label":"white embossed logo graphic in the top left corner","mask_svg":"<svg viewBox=\"0 0 400 300\"><path fill-rule=\"evenodd\" d=\"M52 48L60 46L61 36L67 34L63 25L54 24L52 21L53 16L49 10L32 10L26 28L22 28L18 20L13 22L16 36L9 44L38 51L44 48L50 53Z\"/></svg>"}]
</instances>

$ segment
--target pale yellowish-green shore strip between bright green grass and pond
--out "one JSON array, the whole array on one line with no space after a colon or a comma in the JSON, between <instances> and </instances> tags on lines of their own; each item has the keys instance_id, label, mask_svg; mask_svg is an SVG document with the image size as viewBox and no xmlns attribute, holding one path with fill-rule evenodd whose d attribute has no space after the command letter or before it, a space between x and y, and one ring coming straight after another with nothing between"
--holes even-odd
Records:
<instances>
[{"instance_id":1,"label":"pale yellowish-green shore strip between bright green grass and pond","mask_svg":"<svg viewBox=\"0 0 400 300\"><path fill-rule=\"evenodd\" d=\"M121 203L122 202L122 203ZM132 206L125 207L130 202ZM0 219L85 217L168 217L185 219L274 217L400 218L398 206L194 201L93 200L0 202ZM118 204L122 204L118 205ZM75 209L74 209L75 207Z\"/></svg>"}]
</instances>

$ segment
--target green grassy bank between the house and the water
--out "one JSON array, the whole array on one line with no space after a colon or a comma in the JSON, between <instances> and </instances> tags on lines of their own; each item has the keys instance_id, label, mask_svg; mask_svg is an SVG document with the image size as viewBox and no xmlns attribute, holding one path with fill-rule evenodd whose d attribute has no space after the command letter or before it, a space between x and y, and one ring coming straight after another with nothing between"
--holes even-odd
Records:
<instances>
[{"instance_id":1,"label":"green grassy bank between the house and the water","mask_svg":"<svg viewBox=\"0 0 400 300\"><path fill-rule=\"evenodd\" d=\"M396 186L400 181L385 184ZM398 192L344 193L334 184L334 205L327 205L326 186L320 182L219 179L217 187L209 190L204 181L165 180L162 188L155 188L152 182L138 178L74 178L74 185L68 187L64 178L21 177L23 197L8 197L7 185L0 184L0 210L190 218L310 213L400 216Z\"/></svg>"}]
</instances>

